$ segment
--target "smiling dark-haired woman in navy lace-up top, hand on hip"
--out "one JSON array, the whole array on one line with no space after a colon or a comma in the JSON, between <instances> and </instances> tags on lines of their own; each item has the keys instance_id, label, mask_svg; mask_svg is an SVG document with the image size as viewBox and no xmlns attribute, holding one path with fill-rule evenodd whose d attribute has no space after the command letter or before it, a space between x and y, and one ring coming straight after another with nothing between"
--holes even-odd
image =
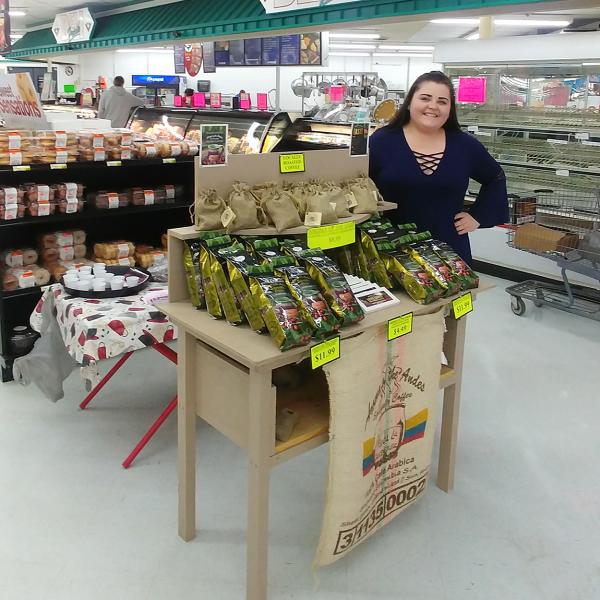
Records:
<instances>
[{"instance_id":1,"label":"smiling dark-haired woman in navy lace-up top, hand on hip","mask_svg":"<svg viewBox=\"0 0 600 600\"><path fill-rule=\"evenodd\" d=\"M441 71L421 75L394 119L370 142L369 175L383 197L397 202L386 213L395 223L416 223L472 262L468 234L508 220L502 167L460 129L454 86ZM481 184L464 208L469 178Z\"/></svg>"}]
</instances>

